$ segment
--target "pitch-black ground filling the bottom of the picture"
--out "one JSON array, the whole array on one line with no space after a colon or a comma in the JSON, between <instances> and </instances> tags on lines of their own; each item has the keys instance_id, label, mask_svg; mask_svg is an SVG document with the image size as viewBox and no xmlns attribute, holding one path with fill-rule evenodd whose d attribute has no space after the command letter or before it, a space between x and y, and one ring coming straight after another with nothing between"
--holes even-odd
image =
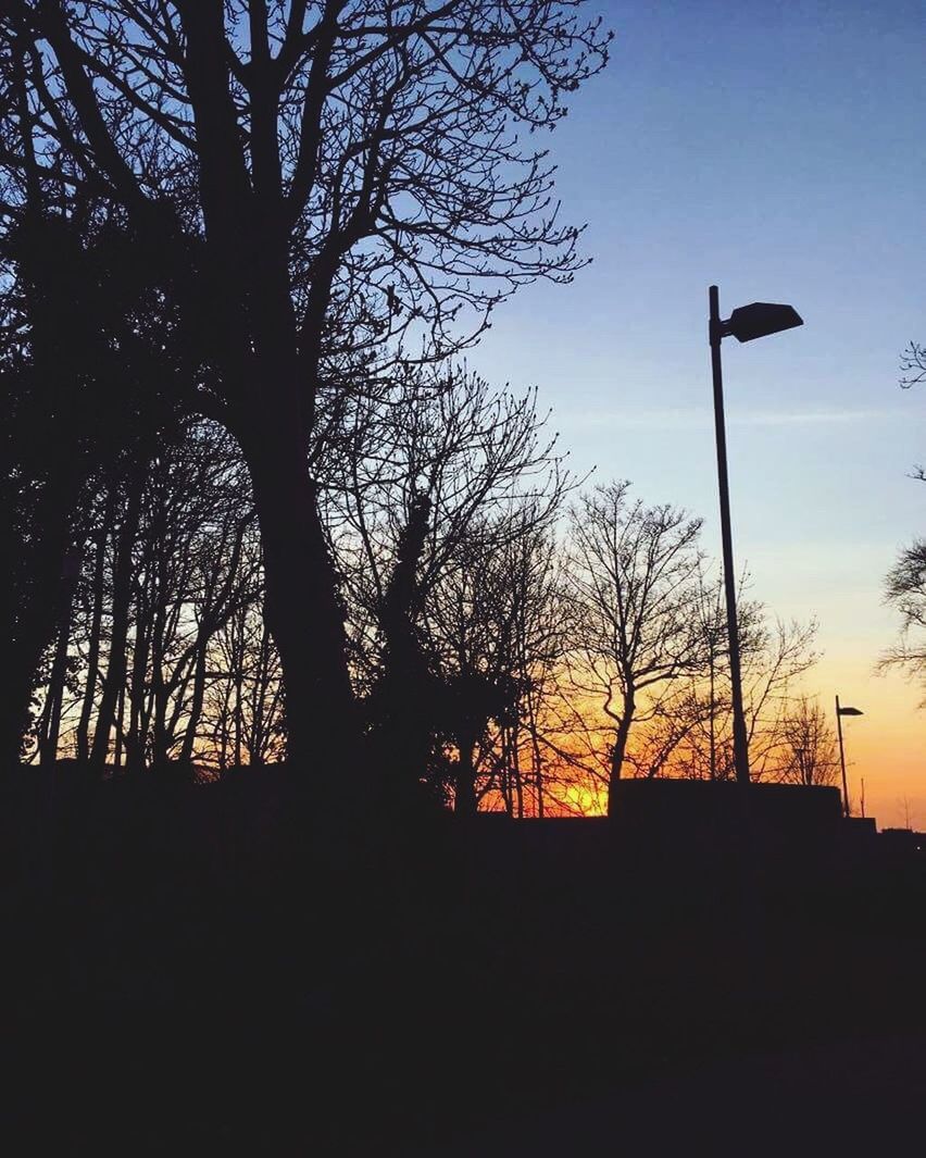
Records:
<instances>
[{"instance_id":1,"label":"pitch-black ground filling the bottom of the picture","mask_svg":"<svg viewBox=\"0 0 926 1158\"><path fill-rule=\"evenodd\" d=\"M0 797L16 1153L923 1137L913 855L338 820L282 772L208 789L29 772Z\"/></svg>"}]
</instances>

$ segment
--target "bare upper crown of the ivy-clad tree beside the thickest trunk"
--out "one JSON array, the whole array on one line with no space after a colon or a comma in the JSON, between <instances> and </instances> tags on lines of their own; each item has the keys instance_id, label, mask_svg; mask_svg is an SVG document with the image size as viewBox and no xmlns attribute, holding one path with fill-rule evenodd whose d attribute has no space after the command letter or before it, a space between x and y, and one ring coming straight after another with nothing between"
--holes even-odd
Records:
<instances>
[{"instance_id":1,"label":"bare upper crown of the ivy-clad tree beside the thickest trunk","mask_svg":"<svg viewBox=\"0 0 926 1158\"><path fill-rule=\"evenodd\" d=\"M369 640L416 518L424 513L414 548L419 604L477 522L482 534L493 526L502 545L514 525L497 516L535 504L538 525L552 520L572 482L549 417L537 412L536 391L494 390L454 365L405 372L388 408L355 416L351 452L332 464L324 493L361 665L380 664Z\"/></svg>"}]
</instances>

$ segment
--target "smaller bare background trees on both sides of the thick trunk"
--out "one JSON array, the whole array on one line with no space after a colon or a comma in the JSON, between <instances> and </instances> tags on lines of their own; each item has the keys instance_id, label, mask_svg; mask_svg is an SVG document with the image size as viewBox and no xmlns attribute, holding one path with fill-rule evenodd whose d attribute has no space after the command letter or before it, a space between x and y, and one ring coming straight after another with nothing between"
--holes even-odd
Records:
<instances>
[{"instance_id":1,"label":"smaller bare background trees on both sides of the thick trunk","mask_svg":"<svg viewBox=\"0 0 926 1158\"><path fill-rule=\"evenodd\" d=\"M433 383L432 383L433 386ZM534 397L472 374L410 384L375 453L332 474L368 758L460 811L598 811L618 776L730 778L722 592L699 522L626 484L580 490ZM36 673L27 758L205 777L285 758L250 482L189 423L81 503L61 616ZM743 601L754 774L826 783L832 736L793 695L813 626Z\"/></svg>"}]
</instances>

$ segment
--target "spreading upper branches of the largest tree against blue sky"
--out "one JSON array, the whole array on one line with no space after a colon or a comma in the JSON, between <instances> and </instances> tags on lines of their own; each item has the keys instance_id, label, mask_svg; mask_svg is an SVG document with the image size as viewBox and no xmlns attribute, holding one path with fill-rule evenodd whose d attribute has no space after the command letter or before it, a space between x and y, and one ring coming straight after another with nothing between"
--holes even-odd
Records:
<instances>
[{"instance_id":1,"label":"spreading upper branches of the largest tree against blue sky","mask_svg":"<svg viewBox=\"0 0 926 1158\"><path fill-rule=\"evenodd\" d=\"M519 285L582 264L543 149L519 138L607 60L571 2L20 0L12 19L56 156L133 212L170 201L220 234L223 277L249 254L285 271L303 357L332 321L341 347L367 340L338 306L348 286L377 301L385 271L404 325L444 354ZM42 140L37 156L51 173Z\"/></svg>"}]
</instances>

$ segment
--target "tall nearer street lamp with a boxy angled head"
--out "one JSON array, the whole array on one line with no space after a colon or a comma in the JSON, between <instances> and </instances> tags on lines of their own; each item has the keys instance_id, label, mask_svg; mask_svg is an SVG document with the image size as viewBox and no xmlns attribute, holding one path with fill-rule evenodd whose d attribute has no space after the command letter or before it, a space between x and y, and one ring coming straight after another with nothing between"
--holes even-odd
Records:
<instances>
[{"instance_id":1,"label":"tall nearer street lamp with a boxy angled head","mask_svg":"<svg viewBox=\"0 0 926 1158\"><path fill-rule=\"evenodd\" d=\"M733 757L736 782L749 784L749 746L743 713L743 684L740 675L740 632L736 625L736 579L733 570L733 532L730 530L730 493L727 476L727 432L723 425L723 375L720 367L720 343L733 336L737 342L751 342L769 334L803 325L793 306L777 306L754 301L740 306L726 322L720 318L720 294L716 286L708 290L711 317L711 368L714 378L714 430L716 432L716 474L720 486L720 529L723 537L723 587L727 595L727 632L730 648L730 690L733 692Z\"/></svg>"}]
</instances>

